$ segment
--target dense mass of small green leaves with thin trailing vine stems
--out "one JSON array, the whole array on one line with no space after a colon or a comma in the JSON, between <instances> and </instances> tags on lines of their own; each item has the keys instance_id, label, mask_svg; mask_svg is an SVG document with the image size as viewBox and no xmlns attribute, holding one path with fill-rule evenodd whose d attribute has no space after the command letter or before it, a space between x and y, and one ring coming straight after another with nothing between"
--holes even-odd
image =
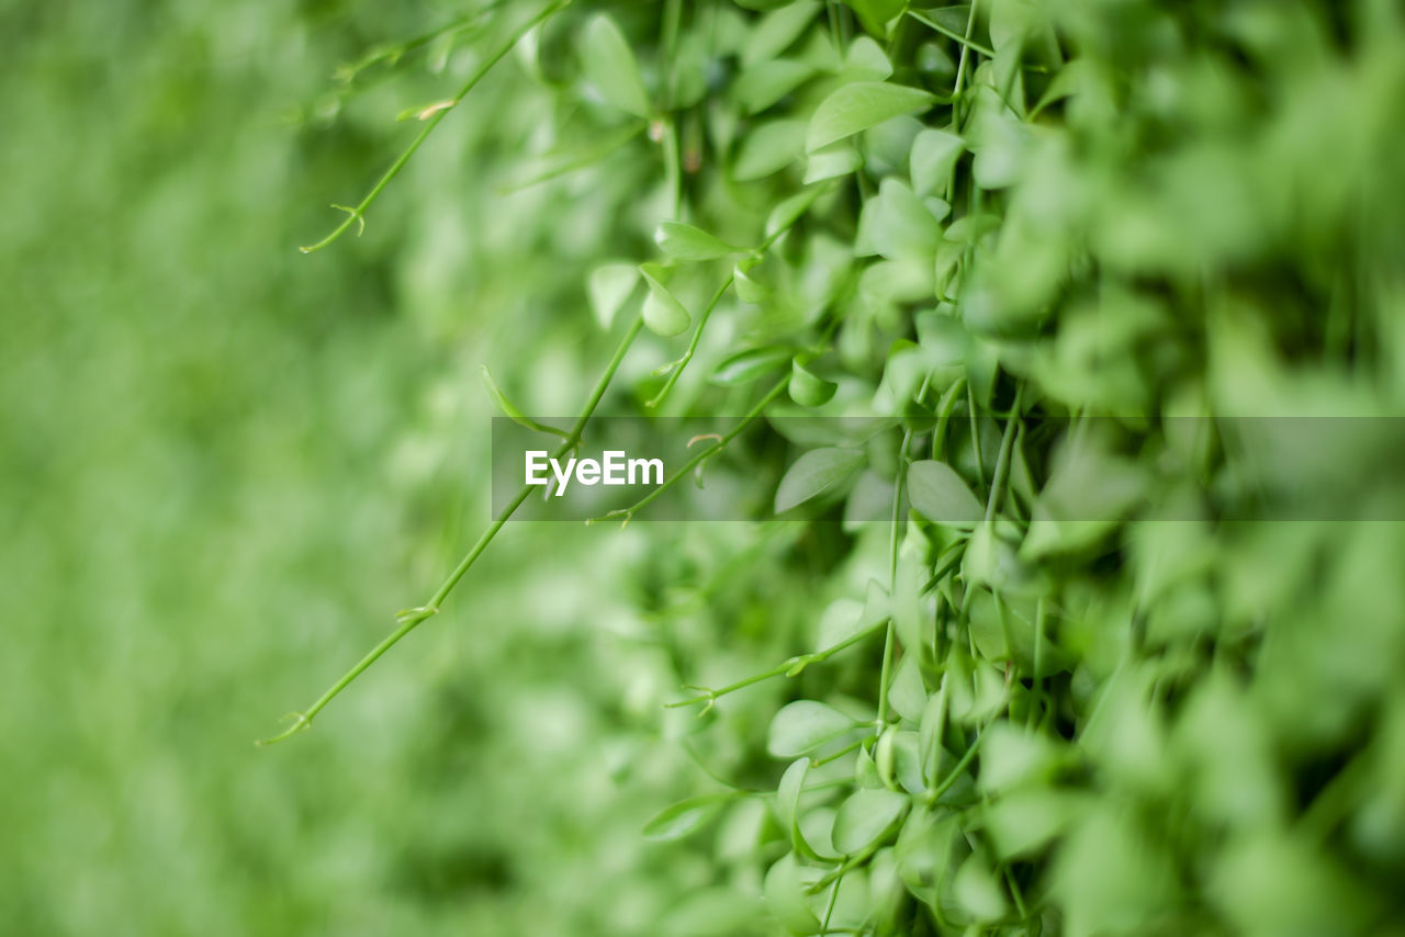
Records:
<instances>
[{"instance_id":1,"label":"dense mass of small green leaves with thin trailing vine stems","mask_svg":"<svg viewBox=\"0 0 1405 937\"><path fill-rule=\"evenodd\" d=\"M645 827L711 844L717 900L677 927L1399 927L1405 538L1242 521L1277 487L1381 497L1385 441L1273 419L1405 402L1398 7L641 6L493 11L464 93L409 114L427 133L516 49L558 101L516 184L614 180L636 253L582 294L620 344L563 450L617 376L617 406L785 437L695 459L778 478L757 537L808 518L729 575L812 589L738 638L791 656L677 701L726 766ZM861 420L787 437L798 413ZM670 614L688 679L735 664Z\"/></svg>"}]
</instances>

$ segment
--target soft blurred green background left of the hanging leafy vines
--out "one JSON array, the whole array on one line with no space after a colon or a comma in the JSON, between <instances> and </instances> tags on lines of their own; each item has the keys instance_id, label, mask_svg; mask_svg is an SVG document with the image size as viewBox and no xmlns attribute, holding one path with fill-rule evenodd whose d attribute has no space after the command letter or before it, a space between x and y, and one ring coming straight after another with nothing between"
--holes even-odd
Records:
<instances>
[{"instance_id":1,"label":"soft blurred green background left of the hanging leafy vines","mask_svg":"<svg viewBox=\"0 0 1405 937\"><path fill-rule=\"evenodd\" d=\"M511 62L364 237L295 250L469 63L346 98L336 66L457 14L0 13L3 933L629 933L712 875L638 871L698 774L656 745L677 676L629 532L509 530L313 732L253 747L476 537L476 367L568 412L614 343L568 303L634 180L554 225L497 194L552 107Z\"/></svg>"}]
</instances>

